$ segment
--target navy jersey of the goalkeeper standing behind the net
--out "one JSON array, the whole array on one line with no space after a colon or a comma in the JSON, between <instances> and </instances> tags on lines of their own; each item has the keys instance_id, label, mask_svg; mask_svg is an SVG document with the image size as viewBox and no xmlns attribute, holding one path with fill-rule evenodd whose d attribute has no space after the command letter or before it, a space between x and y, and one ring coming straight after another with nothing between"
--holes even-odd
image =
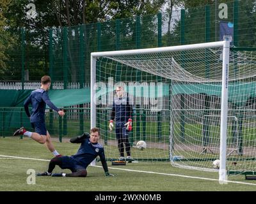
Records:
<instances>
[{"instance_id":1,"label":"navy jersey of the goalkeeper standing behind the net","mask_svg":"<svg viewBox=\"0 0 256 204\"><path fill-rule=\"evenodd\" d=\"M129 104L128 96L122 98L114 97L111 120L115 122L128 122L132 118L132 105Z\"/></svg>"}]
</instances>

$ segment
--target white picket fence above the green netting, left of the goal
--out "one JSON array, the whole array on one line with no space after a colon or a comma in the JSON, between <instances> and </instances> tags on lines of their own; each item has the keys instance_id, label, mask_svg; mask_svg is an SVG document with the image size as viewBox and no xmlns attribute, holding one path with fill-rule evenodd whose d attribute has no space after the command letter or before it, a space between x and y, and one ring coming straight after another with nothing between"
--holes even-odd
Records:
<instances>
[{"instance_id":1,"label":"white picket fence above the green netting, left of the goal","mask_svg":"<svg viewBox=\"0 0 256 204\"><path fill-rule=\"evenodd\" d=\"M38 89L41 86L40 82L24 82L24 89ZM90 87L89 83L83 83L83 88ZM0 89L15 89L21 90L21 82L0 82ZM52 89L64 89L63 82L53 82ZM69 82L67 83L67 89L80 89L79 82Z\"/></svg>"}]
</instances>

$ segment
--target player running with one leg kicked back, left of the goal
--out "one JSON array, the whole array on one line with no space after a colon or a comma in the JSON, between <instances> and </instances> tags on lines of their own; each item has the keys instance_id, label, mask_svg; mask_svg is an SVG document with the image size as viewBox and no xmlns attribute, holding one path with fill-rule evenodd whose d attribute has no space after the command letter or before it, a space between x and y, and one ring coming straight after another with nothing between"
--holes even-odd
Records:
<instances>
[{"instance_id":1,"label":"player running with one leg kicked back, left of the goal","mask_svg":"<svg viewBox=\"0 0 256 204\"><path fill-rule=\"evenodd\" d=\"M49 76L44 76L41 78L41 87L32 91L30 96L24 101L24 108L26 114L28 115L32 128L35 129L35 133L27 131L24 127L17 129L13 136L25 135L32 138L38 143L46 144L47 148L52 152L54 156L61 156L57 150L54 148L51 142L51 136L45 126L45 107L46 104L59 113L60 116L65 115L65 113L54 106L50 101L48 96L48 90L51 87L51 78ZM29 113L29 104L32 105L32 114Z\"/></svg>"}]
</instances>

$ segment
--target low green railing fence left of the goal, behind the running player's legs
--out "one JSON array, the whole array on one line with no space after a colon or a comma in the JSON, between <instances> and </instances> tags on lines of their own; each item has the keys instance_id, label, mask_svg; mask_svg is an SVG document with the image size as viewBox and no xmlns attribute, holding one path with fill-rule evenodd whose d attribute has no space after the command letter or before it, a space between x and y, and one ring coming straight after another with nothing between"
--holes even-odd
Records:
<instances>
[{"instance_id":1,"label":"low green railing fence left of the goal, behind the running player's legs","mask_svg":"<svg viewBox=\"0 0 256 204\"><path fill-rule=\"evenodd\" d=\"M58 137L60 142L64 137L81 135L90 131L90 108L63 108L65 116L47 110L45 123L52 137ZM12 136L15 129L24 126L33 131L24 108L0 108L0 136Z\"/></svg>"}]
</instances>

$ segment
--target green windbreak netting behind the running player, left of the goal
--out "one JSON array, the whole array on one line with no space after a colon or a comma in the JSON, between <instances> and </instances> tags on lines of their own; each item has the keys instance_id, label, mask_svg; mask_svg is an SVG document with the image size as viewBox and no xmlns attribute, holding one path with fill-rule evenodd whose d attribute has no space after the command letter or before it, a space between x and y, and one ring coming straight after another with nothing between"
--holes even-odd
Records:
<instances>
[{"instance_id":1,"label":"green windbreak netting behind the running player, left of the goal","mask_svg":"<svg viewBox=\"0 0 256 204\"><path fill-rule=\"evenodd\" d=\"M0 129L30 127L23 108L24 100L32 90L0 90ZM90 102L90 88L50 90L49 98L57 107ZM13 108L16 107L16 108Z\"/></svg>"}]
</instances>

